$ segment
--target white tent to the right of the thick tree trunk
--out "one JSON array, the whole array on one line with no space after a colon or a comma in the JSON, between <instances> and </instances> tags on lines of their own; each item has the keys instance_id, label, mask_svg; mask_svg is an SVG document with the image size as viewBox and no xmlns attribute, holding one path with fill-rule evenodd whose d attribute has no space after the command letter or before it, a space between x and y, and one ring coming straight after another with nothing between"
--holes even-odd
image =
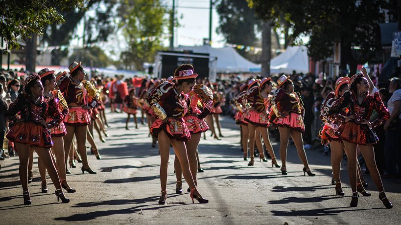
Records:
<instances>
[{"instance_id":1,"label":"white tent to the right of the thick tree trunk","mask_svg":"<svg viewBox=\"0 0 401 225\"><path fill-rule=\"evenodd\" d=\"M307 73L309 71L309 57L304 45L288 46L285 52L270 61L270 73Z\"/></svg>"}]
</instances>

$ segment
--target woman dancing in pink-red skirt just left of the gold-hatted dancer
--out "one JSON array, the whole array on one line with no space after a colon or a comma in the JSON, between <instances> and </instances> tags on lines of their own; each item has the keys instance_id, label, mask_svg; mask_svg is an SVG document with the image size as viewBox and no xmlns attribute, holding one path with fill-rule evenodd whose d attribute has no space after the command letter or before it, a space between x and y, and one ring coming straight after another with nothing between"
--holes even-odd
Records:
<instances>
[{"instance_id":1,"label":"woman dancing in pink-red skirt just left of the gold-hatted dancer","mask_svg":"<svg viewBox=\"0 0 401 225\"><path fill-rule=\"evenodd\" d=\"M249 101L252 103L252 107L248 104L245 107L249 108L249 111L245 114L245 121L248 122L248 130L249 130L249 149L252 151L254 149L255 144L255 133L256 130L259 130L260 135L262 135L264 145L266 146L267 151L272 157L272 167L275 166L277 168L280 167L277 164L276 156L274 155L273 146L270 143L269 133L267 128L269 127L269 115L268 109L270 105L270 99L272 98L269 95L272 90L271 78L263 78L260 81L260 86L258 80L251 80L248 85L249 90L247 91L247 95L245 101ZM257 136L258 141L260 141L260 135ZM260 144L261 145L261 144ZM259 158L265 160L263 149L259 149L260 155ZM251 154L251 161L248 166L254 165L254 156Z\"/></svg>"}]
</instances>

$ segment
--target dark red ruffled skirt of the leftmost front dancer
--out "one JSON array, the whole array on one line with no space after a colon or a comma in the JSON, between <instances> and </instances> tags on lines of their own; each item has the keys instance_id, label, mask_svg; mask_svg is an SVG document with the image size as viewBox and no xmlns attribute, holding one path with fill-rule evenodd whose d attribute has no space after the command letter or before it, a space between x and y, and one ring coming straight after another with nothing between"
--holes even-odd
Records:
<instances>
[{"instance_id":1,"label":"dark red ruffled skirt of the leftmost front dancer","mask_svg":"<svg viewBox=\"0 0 401 225\"><path fill-rule=\"evenodd\" d=\"M41 148L53 147L49 131L33 122L16 123L6 135L7 139L17 143Z\"/></svg>"}]
</instances>

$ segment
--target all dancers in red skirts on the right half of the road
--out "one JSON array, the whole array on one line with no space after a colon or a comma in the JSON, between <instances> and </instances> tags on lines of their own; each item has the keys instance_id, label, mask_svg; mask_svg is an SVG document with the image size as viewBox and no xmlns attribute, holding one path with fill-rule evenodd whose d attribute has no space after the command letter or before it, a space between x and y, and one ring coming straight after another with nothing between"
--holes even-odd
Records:
<instances>
[{"instance_id":1,"label":"all dancers in red skirts on the right half of the road","mask_svg":"<svg viewBox=\"0 0 401 225\"><path fill-rule=\"evenodd\" d=\"M324 126L321 130L323 144L330 143L331 165L335 184L335 193L345 195L341 188L340 164L343 150L348 157L348 174L353 191L351 206L358 204L358 192L363 196L370 196L364 186L366 181L361 180L361 170L357 161L356 148L358 147L365 158L366 165L371 172L372 180L379 190L379 199L387 208L392 203L387 199L380 175L377 170L373 144L378 141L374 128L383 124L389 118L389 112L383 105L379 93L369 93L369 83L366 69L351 78L340 77L335 84L335 91L330 92L321 109L321 119ZM277 80L277 89L272 90L271 78L262 80L251 79L247 84L238 88L233 105L236 108L234 119L241 128L241 143L244 150L244 160L248 160L247 149L250 150L249 166L254 165L254 156L251 151L256 143L260 160L264 158L261 139L271 156L272 167L280 167L269 140L267 128L272 124L280 133L281 172L287 175L285 165L288 140L291 136L297 148L298 156L304 164L304 175L315 176L308 166L304 150L302 132L305 131L304 107L299 93L294 92L294 84L289 76L282 75ZM370 122L373 111L378 113L377 118Z\"/></svg>"}]
</instances>

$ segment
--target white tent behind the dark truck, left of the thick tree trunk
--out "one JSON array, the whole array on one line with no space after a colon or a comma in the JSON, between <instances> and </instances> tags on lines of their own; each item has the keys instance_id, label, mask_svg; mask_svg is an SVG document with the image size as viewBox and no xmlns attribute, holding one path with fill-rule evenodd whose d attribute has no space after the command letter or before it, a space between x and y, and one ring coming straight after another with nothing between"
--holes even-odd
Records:
<instances>
[{"instance_id":1,"label":"white tent behind the dark truck, left of the thick tree trunk","mask_svg":"<svg viewBox=\"0 0 401 225\"><path fill-rule=\"evenodd\" d=\"M211 57L217 57L216 72L218 73L241 73L260 71L260 65L246 60L232 47L214 48L208 45L180 45L175 50L192 50L194 53L209 53Z\"/></svg>"}]
</instances>

